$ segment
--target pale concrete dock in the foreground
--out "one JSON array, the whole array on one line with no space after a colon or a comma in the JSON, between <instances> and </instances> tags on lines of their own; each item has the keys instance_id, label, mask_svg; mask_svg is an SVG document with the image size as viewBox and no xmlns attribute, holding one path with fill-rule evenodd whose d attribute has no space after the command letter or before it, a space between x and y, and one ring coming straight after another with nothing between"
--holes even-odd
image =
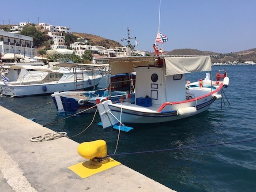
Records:
<instances>
[{"instance_id":1,"label":"pale concrete dock in the foreground","mask_svg":"<svg viewBox=\"0 0 256 192\"><path fill-rule=\"evenodd\" d=\"M82 179L68 169L85 161L79 143L66 137L30 141L46 133L55 132L0 106L0 191L173 191L124 165Z\"/></svg>"}]
</instances>

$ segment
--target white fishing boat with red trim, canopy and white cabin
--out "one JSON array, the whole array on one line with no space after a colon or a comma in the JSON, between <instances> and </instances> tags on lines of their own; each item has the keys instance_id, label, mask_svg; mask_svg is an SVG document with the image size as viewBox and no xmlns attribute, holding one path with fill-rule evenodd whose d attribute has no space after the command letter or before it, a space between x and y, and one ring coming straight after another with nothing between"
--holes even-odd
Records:
<instances>
[{"instance_id":1,"label":"white fishing boat with red trim, canopy and white cabin","mask_svg":"<svg viewBox=\"0 0 256 192\"><path fill-rule=\"evenodd\" d=\"M222 99L228 87L226 71L218 72L216 81L209 74L194 83L187 73L211 72L210 56L143 56L110 58L111 74L136 72L135 103L98 100L103 128L130 131L124 124L148 124L178 120L202 113ZM119 126L120 125L120 126Z\"/></svg>"}]
</instances>

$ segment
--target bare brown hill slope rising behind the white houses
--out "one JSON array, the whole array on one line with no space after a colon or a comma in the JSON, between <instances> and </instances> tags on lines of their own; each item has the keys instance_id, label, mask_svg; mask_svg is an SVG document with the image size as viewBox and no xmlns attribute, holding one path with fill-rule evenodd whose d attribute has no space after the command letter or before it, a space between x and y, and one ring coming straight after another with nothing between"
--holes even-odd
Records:
<instances>
[{"instance_id":1,"label":"bare brown hill slope rising behind the white houses","mask_svg":"<svg viewBox=\"0 0 256 192\"><path fill-rule=\"evenodd\" d=\"M95 45L100 45L100 46L104 46L106 49L109 48L115 48L115 47L122 47L122 45L117 42L117 41L113 41L110 39L105 39L93 34L85 34L85 33L76 33L73 32L73 35L75 35L77 38L86 38L86 39L90 39L91 42L94 42Z\"/></svg>"}]
</instances>

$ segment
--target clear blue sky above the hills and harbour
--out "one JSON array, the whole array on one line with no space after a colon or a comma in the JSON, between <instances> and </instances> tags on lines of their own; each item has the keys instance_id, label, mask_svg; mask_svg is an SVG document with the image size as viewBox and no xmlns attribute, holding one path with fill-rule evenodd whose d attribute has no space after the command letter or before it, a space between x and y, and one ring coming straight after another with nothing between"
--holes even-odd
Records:
<instances>
[{"instance_id":1,"label":"clear blue sky above the hills and harbour","mask_svg":"<svg viewBox=\"0 0 256 192\"><path fill-rule=\"evenodd\" d=\"M120 43L129 27L140 50L153 51L158 33L159 0L0 0L0 4L0 24L39 20ZM161 46L164 51L253 49L256 0L161 0L160 31L168 37ZM135 45L134 39L131 43Z\"/></svg>"}]
</instances>

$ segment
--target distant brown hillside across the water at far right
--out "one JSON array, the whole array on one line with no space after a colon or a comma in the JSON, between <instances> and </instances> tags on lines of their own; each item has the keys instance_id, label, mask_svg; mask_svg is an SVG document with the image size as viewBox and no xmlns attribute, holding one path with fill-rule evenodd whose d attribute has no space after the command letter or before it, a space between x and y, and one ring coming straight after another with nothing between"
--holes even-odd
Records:
<instances>
[{"instance_id":1,"label":"distant brown hillside across the water at far right","mask_svg":"<svg viewBox=\"0 0 256 192\"><path fill-rule=\"evenodd\" d=\"M212 62L245 62L256 61L256 48L236 53L215 53L211 51L200 51L197 49L173 49L166 52L165 55L211 55Z\"/></svg>"}]
</instances>

